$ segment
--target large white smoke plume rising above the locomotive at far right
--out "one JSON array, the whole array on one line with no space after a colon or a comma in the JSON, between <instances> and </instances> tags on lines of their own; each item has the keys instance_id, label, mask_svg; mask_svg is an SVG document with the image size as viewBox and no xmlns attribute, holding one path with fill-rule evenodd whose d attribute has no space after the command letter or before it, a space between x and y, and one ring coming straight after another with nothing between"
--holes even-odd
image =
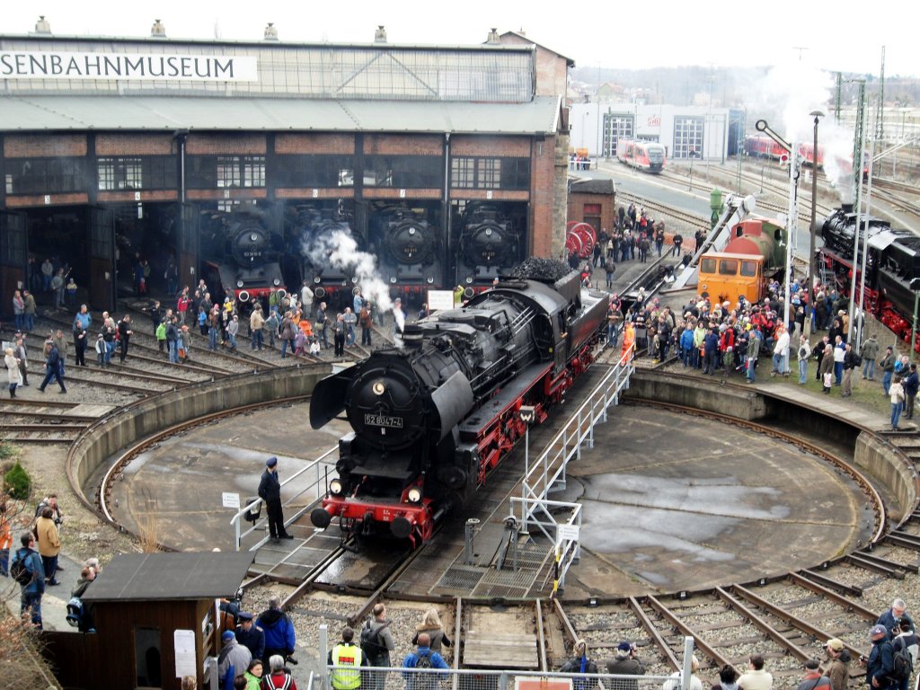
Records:
<instances>
[{"instance_id":1,"label":"large white smoke plume rising above the locomotive at far right","mask_svg":"<svg viewBox=\"0 0 920 690\"><path fill-rule=\"evenodd\" d=\"M772 67L761 82L751 84L745 100L750 120L767 121L789 143L811 144L811 112L821 110L824 116L818 123L818 146L823 151L824 174L841 201L852 202L854 132L834 121L834 87L834 75L796 61Z\"/></svg>"}]
</instances>

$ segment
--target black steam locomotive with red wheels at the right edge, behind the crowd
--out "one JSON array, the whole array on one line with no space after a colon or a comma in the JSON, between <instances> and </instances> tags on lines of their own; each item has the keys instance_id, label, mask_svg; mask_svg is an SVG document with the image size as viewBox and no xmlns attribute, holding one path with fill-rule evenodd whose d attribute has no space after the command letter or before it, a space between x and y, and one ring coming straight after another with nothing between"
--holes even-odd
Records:
<instances>
[{"instance_id":1,"label":"black steam locomotive with red wheels at the right edge, behind the crowd","mask_svg":"<svg viewBox=\"0 0 920 690\"><path fill-rule=\"evenodd\" d=\"M909 340L915 293L911 283L920 278L920 237L909 230L893 230L887 221L871 216L864 216L861 224L864 229L859 232L857 290L862 247L868 241L864 307L900 338ZM834 272L837 290L844 294L849 294L853 276L856 226L857 214L850 206L837 209L822 224L824 247L819 259L827 270ZM914 349L920 351L916 343Z\"/></svg>"}]
</instances>

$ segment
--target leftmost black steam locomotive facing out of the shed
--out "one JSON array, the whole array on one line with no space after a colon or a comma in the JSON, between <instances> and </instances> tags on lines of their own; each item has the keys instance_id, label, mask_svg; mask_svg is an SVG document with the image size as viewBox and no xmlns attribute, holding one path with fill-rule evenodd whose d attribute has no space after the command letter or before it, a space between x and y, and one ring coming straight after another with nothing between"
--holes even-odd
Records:
<instances>
[{"instance_id":1,"label":"leftmost black steam locomotive facing out of the shed","mask_svg":"<svg viewBox=\"0 0 920 690\"><path fill-rule=\"evenodd\" d=\"M205 274L216 278L224 291L232 291L240 302L267 296L271 288L282 287L280 261L284 243L281 234L272 232L256 216L218 214L211 227L202 233L206 244Z\"/></svg>"}]
</instances>

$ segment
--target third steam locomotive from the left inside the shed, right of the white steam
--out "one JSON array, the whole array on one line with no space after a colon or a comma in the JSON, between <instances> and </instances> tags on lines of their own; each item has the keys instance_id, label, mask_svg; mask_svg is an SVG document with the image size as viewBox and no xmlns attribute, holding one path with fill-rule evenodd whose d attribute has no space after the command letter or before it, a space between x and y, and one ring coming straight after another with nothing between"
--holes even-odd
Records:
<instances>
[{"instance_id":1,"label":"third steam locomotive from the left inside the shed, right of the white steam","mask_svg":"<svg viewBox=\"0 0 920 690\"><path fill-rule=\"evenodd\" d=\"M424 208L387 206L374 214L371 244L376 249L380 273L403 300L419 297L444 286L441 229L434 214Z\"/></svg>"}]
</instances>

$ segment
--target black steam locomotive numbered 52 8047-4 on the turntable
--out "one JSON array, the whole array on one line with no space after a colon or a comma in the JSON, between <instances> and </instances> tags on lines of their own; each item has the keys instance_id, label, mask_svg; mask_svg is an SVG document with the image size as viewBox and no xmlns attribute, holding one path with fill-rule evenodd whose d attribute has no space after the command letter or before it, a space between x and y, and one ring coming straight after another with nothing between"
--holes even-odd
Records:
<instances>
[{"instance_id":1,"label":"black steam locomotive numbered 52 8047-4 on the turntable","mask_svg":"<svg viewBox=\"0 0 920 690\"><path fill-rule=\"evenodd\" d=\"M523 437L520 408L545 420L591 365L605 297L582 290L577 272L502 278L463 308L407 324L405 350L375 351L320 381L311 426L344 411L353 431L339 439L338 477L312 522L338 517L358 535L388 528L413 546L430 539Z\"/></svg>"}]
</instances>

